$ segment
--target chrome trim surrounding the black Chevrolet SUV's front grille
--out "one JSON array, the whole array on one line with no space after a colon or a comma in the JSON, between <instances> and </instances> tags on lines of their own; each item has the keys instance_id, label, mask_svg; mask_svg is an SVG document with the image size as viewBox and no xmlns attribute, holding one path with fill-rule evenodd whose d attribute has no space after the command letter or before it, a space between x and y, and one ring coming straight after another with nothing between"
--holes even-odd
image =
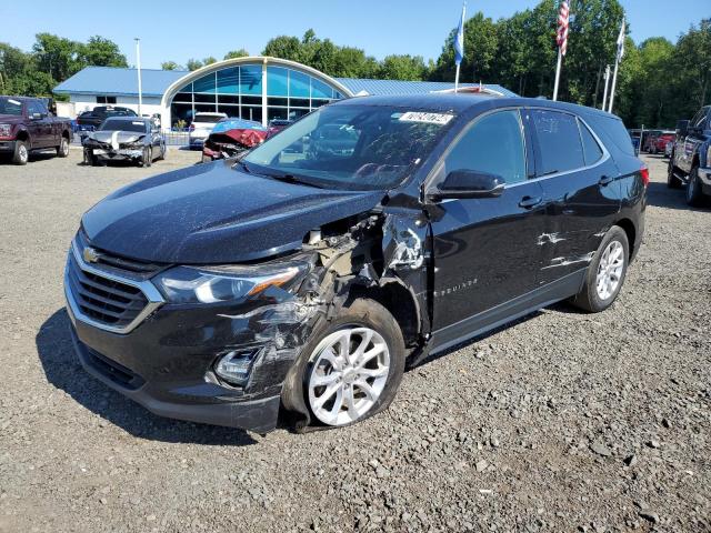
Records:
<instances>
[{"instance_id":1,"label":"chrome trim surrounding the black Chevrolet SUV's front grille","mask_svg":"<svg viewBox=\"0 0 711 533\"><path fill-rule=\"evenodd\" d=\"M132 280L130 278L122 278L120 275L112 274L112 273L107 272L104 270L97 269L96 266L92 266L91 264L87 263L83 260L83 258L81 257L81 254L79 253L79 249L77 247L77 240L76 239L73 239L71 241L71 248L70 248L69 253L71 253L73 255L74 261L77 262L77 264L79 265L79 268L82 271L89 272L89 273L94 274L94 275L99 275L101 278L106 278L106 279L111 280L111 281L117 281L119 283L123 283L124 285L134 286L136 289L139 289L143 293L146 299L148 300L148 304L136 316L136 319L133 319L129 324L123 325L123 326L116 326L116 325L104 324L102 322L99 322L99 321L92 319L91 316L86 315L81 311L81 308L79 306L79 303L77 302L77 300L74 299L74 295L72 294L72 292L70 290L70 284L69 284L69 258L68 258L67 259L67 265L64 266L64 296L67 298L67 303L69 304L69 308L71 310L72 315L77 320L79 320L79 321L81 321L81 322L83 322L86 324L92 325L94 328L98 328L100 330L103 330L103 331L109 331L111 333L127 334L127 333L130 333L131 331L133 331L136 328L138 328L138 325L141 322L143 322L143 320L146 320L152 312L154 312L158 308L160 308L163 303L166 303L166 300L163 299L161 293L158 291L156 285L153 285L153 283L151 283L150 281L148 281L148 280L137 281L137 280Z\"/></svg>"}]
</instances>

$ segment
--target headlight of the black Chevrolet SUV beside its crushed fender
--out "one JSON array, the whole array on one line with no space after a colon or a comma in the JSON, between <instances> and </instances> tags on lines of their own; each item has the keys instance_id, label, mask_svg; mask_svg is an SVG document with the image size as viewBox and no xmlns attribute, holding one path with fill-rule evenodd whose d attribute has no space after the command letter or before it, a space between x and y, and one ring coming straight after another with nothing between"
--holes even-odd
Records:
<instances>
[{"instance_id":1,"label":"headlight of the black Chevrolet SUV beside its crushed fender","mask_svg":"<svg viewBox=\"0 0 711 533\"><path fill-rule=\"evenodd\" d=\"M287 289L307 269L307 262L297 261L254 266L176 266L153 281L171 303L231 302L270 286Z\"/></svg>"}]
</instances>

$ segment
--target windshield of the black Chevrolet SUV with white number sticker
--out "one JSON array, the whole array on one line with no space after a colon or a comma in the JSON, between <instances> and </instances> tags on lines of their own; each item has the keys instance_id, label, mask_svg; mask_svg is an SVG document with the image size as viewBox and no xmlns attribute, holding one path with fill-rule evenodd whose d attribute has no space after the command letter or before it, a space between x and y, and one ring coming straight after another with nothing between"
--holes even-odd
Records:
<instances>
[{"instance_id":1,"label":"windshield of the black Chevrolet SUV with white number sticker","mask_svg":"<svg viewBox=\"0 0 711 533\"><path fill-rule=\"evenodd\" d=\"M391 105L321 108L250 152L256 173L318 187L389 189L420 164L452 114Z\"/></svg>"}]
</instances>

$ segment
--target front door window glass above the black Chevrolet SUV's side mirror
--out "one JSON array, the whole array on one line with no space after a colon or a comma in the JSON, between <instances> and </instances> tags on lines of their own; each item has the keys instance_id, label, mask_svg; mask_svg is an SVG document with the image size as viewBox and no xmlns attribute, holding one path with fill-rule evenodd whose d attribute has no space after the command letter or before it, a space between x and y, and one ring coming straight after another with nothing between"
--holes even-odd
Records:
<instances>
[{"instance_id":1,"label":"front door window glass above the black Chevrolet SUV's side mirror","mask_svg":"<svg viewBox=\"0 0 711 533\"><path fill-rule=\"evenodd\" d=\"M454 170L500 175L508 184L524 181L525 145L519 111L498 111L477 120L444 159L444 175Z\"/></svg>"}]
</instances>

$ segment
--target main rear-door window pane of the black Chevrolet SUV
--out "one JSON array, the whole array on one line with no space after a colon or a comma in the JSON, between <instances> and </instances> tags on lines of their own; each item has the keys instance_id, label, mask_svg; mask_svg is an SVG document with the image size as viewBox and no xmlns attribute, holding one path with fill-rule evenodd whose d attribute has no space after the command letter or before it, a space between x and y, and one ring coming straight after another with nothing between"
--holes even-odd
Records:
<instances>
[{"instance_id":1,"label":"main rear-door window pane of the black Chevrolet SUV","mask_svg":"<svg viewBox=\"0 0 711 533\"><path fill-rule=\"evenodd\" d=\"M539 175L567 172L585 167L578 120L558 111L531 111L541 151Z\"/></svg>"}]
</instances>

